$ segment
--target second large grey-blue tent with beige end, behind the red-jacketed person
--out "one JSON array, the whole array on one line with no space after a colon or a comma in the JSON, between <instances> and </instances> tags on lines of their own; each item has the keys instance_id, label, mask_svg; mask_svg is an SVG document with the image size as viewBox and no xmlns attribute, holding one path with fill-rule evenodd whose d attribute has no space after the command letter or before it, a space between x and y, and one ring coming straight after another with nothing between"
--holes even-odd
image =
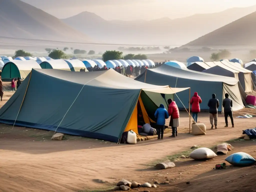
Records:
<instances>
[{"instance_id":1,"label":"second large grey-blue tent with beige end, behind the red-jacketed person","mask_svg":"<svg viewBox=\"0 0 256 192\"><path fill-rule=\"evenodd\" d=\"M229 93L233 100L233 110L236 111L243 108L238 80L235 78L191 71L189 69L182 70L168 65L162 65L154 69L146 69L146 71L135 80L154 85L168 84L170 87L190 87L191 96L193 96L194 92L198 92L201 97L202 103L200 104L200 108L202 110L209 110L207 104L212 93L216 94L220 103L222 103L222 100L225 98L225 93ZM188 109L189 98L187 95L187 92L183 91L177 94L178 98L174 96L179 108L184 109L185 107ZM218 111L223 111L222 105L219 106Z\"/></svg>"}]
</instances>

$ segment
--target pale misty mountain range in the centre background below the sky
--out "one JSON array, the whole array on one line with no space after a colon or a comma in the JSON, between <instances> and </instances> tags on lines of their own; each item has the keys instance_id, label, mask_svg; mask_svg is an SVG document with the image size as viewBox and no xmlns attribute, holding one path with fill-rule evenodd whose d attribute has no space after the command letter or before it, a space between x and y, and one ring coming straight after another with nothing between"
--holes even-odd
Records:
<instances>
[{"instance_id":1,"label":"pale misty mountain range in the centre background below the sky","mask_svg":"<svg viewBox=\"0 0 256 192\"><path fill-rule=\"evenodd\" d=\"M92 38L109 43L183 45L254 11L256 6L150 21L108 21L94 13L83 12L62 21Z\"/></svg>"}]
</instances>

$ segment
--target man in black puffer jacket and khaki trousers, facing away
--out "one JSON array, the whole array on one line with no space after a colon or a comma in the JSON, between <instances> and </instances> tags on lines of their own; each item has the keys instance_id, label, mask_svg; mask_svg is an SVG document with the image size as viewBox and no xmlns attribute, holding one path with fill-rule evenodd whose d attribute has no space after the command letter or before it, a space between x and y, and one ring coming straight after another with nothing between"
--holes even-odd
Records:
<instances>
[{"instance_id":1,"label":"man in black puffer jacket and khaki trousers, facing away","mask_svg":"<svg viewBox=\"0 0 256 192\"><path fill-rule=\"evenodd\" d=\"M213 129L213 120L215 129L217 129L219 100L216 99L216 95L214 93L212 94L212 99L208 101L208 107L210 114L211 129Z\"/></svg>"}]
</instances>

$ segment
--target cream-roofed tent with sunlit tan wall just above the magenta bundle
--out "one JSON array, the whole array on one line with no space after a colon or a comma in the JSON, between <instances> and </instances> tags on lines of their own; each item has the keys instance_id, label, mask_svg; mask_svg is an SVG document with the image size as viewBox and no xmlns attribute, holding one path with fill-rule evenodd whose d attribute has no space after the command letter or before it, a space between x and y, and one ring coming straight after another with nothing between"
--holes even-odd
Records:
<instances>
[{"instance_id":1,"label":"cream-roofed tent with sunlit tan wall just above the magenta bundle","mask_svg":"<svg viewBox=\"0 0 256 192\"><path fill-rule=\"evenodd\" d=\"M219 61L219 62L221 62L222 64L224 64L225 66L231 69L239 71L238 78L243 90L245 92L252 92L252 78L251 78L252 71L242 68L242 66L239 65L238 63L233 63L225 60Z\"/></svg>"}]
</instances>

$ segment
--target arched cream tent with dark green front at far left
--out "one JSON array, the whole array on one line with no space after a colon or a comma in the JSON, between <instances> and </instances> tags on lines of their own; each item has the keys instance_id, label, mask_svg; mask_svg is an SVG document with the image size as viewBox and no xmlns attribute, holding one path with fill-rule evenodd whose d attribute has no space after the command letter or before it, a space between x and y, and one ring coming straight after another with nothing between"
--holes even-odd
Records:
<instances>
[{"instance_id":1,"label":"arched cream tent with dark green front at far left","mask_svg":"<svg viewBox=\"0 0 256 192\"><path fill-rule=\"evenodd\" d=\"M5 63L1 77L2 79L12 79L18 77L25 79L32 69L41 69L40 65L35 60L12 60Z\"/></svg>"}]
</instances>

